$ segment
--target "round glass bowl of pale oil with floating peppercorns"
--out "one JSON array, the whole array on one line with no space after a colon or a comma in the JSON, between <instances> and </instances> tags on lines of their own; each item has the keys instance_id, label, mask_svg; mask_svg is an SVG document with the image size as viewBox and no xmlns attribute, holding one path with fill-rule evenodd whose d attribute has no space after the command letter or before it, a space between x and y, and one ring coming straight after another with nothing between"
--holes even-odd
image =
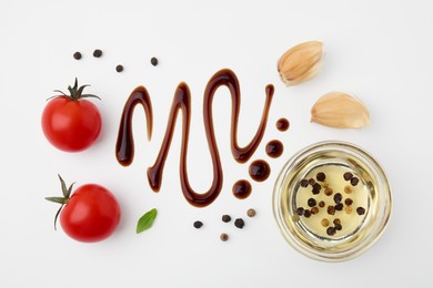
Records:
<instances>
[{"instance_id":1,"label":"round glass bowl of pale oil with floating peppercorns","mask_svg":"<svg viewBox=\"0 0 433 288\"><path fill-rule=\"evenodd\" d=\"M273 212L286 241L305 256L344 261L367 250L391 215L391 188L380 164L345 142L321 142L281 171Z\"/></svg>"}]
</instances>

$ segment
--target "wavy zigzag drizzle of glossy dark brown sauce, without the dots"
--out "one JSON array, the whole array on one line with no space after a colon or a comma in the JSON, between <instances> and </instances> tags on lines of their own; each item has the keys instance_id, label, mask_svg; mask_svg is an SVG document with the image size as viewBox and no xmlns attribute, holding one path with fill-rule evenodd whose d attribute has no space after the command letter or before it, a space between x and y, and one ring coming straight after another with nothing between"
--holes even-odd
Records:
<instances>
[{"instance_id":1,"label":"wavy zigzag drizzle of glossy dark brown sauce, without the dots","mask_svg":"<svg viewBox=\"0 0 433 288\"><path fill-rule=\"evenodd\" d=\"M148 168L148 179L151 188L154 192L160 191L162 183L162 173L164 169L165 160L170 150L173 132L175 128L175 120L178 112L182 112L182 144L181 144L181 153L180 153L180 179L181 187L184 197L187 200L197 206L204 207L211 204L220 194L223 182L223 172L221 167L220 153L216 145L216 140L214 135L213 127L213 116L212 116L212 101L214 93L220 86L226 86L230 91L232 99L232 115L231 115L231 151L235 161L240 163L244 163L251 158L258 148L264 131L266 128L269 110L272 102L273 96L273 86L268 85L265 89L266 100L262 112L262 117L260 125L256 130L254 137L245 147L240 147L238 145L238 120L239 112L241 106L241 92L239 86L239 81L236 75L228 69L221 70L216 72L209 81L205 91L204 91L204 100L203 100L203 122L204 128L209 145L209 152L212 158L213 165L213 181L211 187L204 193L197 193L192 189L188 172L187 172L187 154L188 154L188 141L189 141L189 132L190 132L190 119L191 119L191 95L190 90L185 83L180 83L178 89L175 90L173 102L171 105L171 111L169 115L169 121L165 128L164 138L161 144L160 152L155 160L153 166ZM134 94L134 93L132 93ZM131 96L132 96L131 94ZM144 93L147 95L147 93ZM130 96L130 97L131 97ZM121 126L119 128L119 136L117 143L117 157L118 161L122 165L129 165L133 160L133 138L131 132L131 117L132 117L132 105L133 101L128 100L127 105L124 106ZM141 103L141 102L140 102ZM150 105L150 101L147 102ZM144 105L144 104L143 104ZM148 117L148 132L151 131L151 126L149 127L149 119L151 119L151 109L145 109ZM151 107L151 106L150 106ZM150 113L150 116L149 116ZM123 143L125 142L125 143Z\"/></svg>"}]
</instances>

